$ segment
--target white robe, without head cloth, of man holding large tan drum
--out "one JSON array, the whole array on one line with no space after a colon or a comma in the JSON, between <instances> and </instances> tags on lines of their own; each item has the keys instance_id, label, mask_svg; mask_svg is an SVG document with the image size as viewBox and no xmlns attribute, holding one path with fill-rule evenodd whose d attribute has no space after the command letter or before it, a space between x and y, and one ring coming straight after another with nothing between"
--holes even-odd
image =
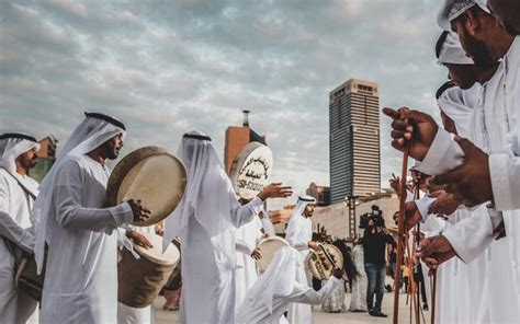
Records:
<instances>
[{"instance_id":1,"label":"white robe, without head cloth, of man holding large tan drum","mask_svg":"<svg viewBox=\"0 0 520 324\"><path fill-rule=\"evenodd\" d=\"M41 323L117 322L117 227L133 212L127 202L103 208L108 180L106 166L87 155L56 174Z\"/></svg>"}]
</instances>

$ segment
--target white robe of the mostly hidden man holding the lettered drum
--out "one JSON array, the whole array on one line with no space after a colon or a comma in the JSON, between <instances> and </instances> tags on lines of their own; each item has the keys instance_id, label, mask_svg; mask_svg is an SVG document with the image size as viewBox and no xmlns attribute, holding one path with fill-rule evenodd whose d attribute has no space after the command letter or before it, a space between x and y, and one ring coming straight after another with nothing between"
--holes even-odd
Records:
<instances>
[{"instance_id":1,"label":"white robe of the mostly hidden man holding the lettered drum","mask_svg":"<svg viewBox=\"0 0 520 324\"><path fill-rule=\"evenodd\" d=\"M240 305L246 292L258 278L257 263L251 257L259 240L262 238L262 222L256 217L252 221L236 230L237 265L235 269L236 296L235 305ZM261 253L261 252L260 252Z\"/></svg>"}]
</instances>

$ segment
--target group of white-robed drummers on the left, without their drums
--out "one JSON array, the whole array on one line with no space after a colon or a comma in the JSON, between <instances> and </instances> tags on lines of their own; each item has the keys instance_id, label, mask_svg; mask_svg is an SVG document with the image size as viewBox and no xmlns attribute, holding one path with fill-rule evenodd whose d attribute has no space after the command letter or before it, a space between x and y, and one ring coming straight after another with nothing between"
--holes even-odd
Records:
<instances>
[{"instance_id":1,"label":"group of white-robed drummers on the left, without their drums","mask_svg":"<svg viewBox=\"0 0 520 324\"><path fill-rule=\"evenodd\" d=\"M155 322L149 306L117 303L117 247L128 246L128 239L151 246L127 227L149 218L140 200L105 207L105 163L118 157L125 130L114 117L86 113L39 185L27 176L37 161L36 139L18 132L0 136L2 323ZM290 246L258 277L258 240L274 234L262 216L263 202L289 197L292 189L271 184L255 199L239 200L212 139L200 131L183 135L178 155L186 166L188 185L162 234L165 244L174 238L181 242L181 322L310 323L309 304L323 303L342 277L336 269L318 291L308 285L303 263L308 250L317 248L309 219L314 198L298 199L286 230ZM45 273L39 309L14 284L20 258L33 255Z\"/></svg>"}]
</instances>

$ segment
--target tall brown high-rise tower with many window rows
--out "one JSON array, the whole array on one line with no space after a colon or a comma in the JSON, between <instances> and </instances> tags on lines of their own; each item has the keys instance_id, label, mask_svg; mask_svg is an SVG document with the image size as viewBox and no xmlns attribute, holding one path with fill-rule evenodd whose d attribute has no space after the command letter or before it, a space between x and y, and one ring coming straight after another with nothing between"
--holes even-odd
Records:
<instances>
[{"instance_id":1,"label":"tall brown high-rise tower with many window rows","mask_svg":"<svg viewBox=\"0 0 520 324\"><path fill-rule=\"evenodd\" d=\"M350 79L329 94L330 201L381 189L377 83Z\"/></svg>"}]
</instances>

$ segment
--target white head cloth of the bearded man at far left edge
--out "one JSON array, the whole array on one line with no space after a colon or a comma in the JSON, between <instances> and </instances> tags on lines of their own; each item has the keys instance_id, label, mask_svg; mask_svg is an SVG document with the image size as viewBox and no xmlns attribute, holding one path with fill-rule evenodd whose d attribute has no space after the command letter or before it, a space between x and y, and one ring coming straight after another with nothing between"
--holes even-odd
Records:
<instances>
[{"instance_id":1,"label":"white head cloth of the bearded man at far left edge","mask_svg":"<svg viewBox=\"0 0 520 324\"><path fill-rule=\"evenodd\" d=\"M0 142L0 167L5 169L26 189L34 196L37 196L37 187L34 187L33 182L26 182L16 173L16 158L32 149L39 150L39 144L36 141L24 138L10 137L2 139Z\"/></svg>"}]
</instances>

